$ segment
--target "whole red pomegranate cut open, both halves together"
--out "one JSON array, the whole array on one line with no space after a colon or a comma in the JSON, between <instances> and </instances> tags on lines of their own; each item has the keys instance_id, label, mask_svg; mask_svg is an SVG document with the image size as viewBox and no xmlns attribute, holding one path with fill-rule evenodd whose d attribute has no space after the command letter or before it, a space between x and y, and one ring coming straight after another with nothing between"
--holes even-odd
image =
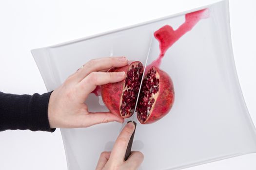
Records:
<instances>
[{"instance_id":1,"label":"whole red pomegranate cut open, both halves together","mask_svg":"<svg viewBox=\"0 0 256 170\"><path fill-rule=\"evenodd\" d=\"M125 71L125 80L101 86L101 97L108 109L122 117L133 115L138 90L143 74L140 62L121 68L111 68L109 72ZM173 82L169 75L157 67L151 67L142 81L137 105L137 118L142 124L149 124L164 117L174 102Z\"/></svg>"}]
</instances>

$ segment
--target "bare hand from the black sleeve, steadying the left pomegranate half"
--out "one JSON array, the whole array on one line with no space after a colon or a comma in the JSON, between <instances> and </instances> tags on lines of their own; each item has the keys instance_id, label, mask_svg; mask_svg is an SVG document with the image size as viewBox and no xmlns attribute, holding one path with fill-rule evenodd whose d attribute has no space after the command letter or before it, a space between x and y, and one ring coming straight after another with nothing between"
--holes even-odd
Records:
<instances>
[{"instance_id":1,"label":"bare hand from the black sleeve, steadying the left pomegranate half","mask_svg":"<svg viewBox=\"0 0 256 170\"><path fill-rule=\"evenodd\" d=\"M50 96L48 104L50 127L79 128L110 121L122 123L124 120L111 112L89 112L84 102L97 85L116 83L126 76L124 72L104 72L104 70L127 64L125 57L94 59L69 76Z\"/></svg>"}]
</instances>

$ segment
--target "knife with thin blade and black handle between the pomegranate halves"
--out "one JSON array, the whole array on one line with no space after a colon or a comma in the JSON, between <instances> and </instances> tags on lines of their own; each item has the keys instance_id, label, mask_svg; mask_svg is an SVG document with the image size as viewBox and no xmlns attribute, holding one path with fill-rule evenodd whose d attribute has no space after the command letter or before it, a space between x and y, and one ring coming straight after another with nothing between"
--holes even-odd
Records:
<instances>
[{"instance_id":1,"label":"knife with thin blade and black handle between the pomegranate halves","mask_svg":"<svg viewBox=\"0 0 256 170\"><path fill-rule=\"evenodd\" d=\"M137 104L138 104L138 98L139 98L139 93L140 93L140 89L141 89L141 85L142 85L142 81L143 81L143 78L144 78L144 74L145 74L145 70L146 70L146 66L147 66L147 63L148 63L148 57L149 57L149 54L150 54L150 51L151 51L151 45L152 45L152 40L153 40L153 34L151 34L151 39L150 39L150 44L149 44L149 49L148 49L148 53L147 53L147 56L146 56L146 61L144 63L144 70L143 70L143 74L142 74L142 78L141 78L141 81L140 81L140 85L139 85L139 90L138 90L138 96L137 96L137 100L136 100L136 104L135 104L135 108L134 108L134 113L133 113L133 116L132 116L132 120L128 121L127 123L130 123L130 122L133 122L134 125L135 125L135 129L134 129L134 132L129 140L129 143L128 143L128 146L127 146L127 149L126 149L126 152L125 152L125 156L124 156L124 160L126 161L128 159L128 157L130 156L131 154L131 149L132 149L132 145L133 145L133 138L134 138L134 134L135 134L135 130L136 130L136 126L137 126L137 111L136 111L136 107L137 107ZM135 113L136 112L136 113Z\"/></svg>"}]
</instances>

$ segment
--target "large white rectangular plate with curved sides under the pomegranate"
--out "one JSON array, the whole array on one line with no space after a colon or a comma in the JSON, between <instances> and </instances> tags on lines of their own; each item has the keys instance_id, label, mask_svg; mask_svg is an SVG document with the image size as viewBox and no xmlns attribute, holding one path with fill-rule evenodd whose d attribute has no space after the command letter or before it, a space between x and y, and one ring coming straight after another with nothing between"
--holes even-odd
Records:
<instances>
[{"instance_id":1,"label":"large white rectangular plate with curved sides under the pomegranate","mask_svg":"<svg viewBox=\"0 0 256 170\"><path fill-rule=\"evenodd\" d=\"M236 75L228 1L206 6L210 17L182 36L165 54L161 69L174 82L170 113L156 123L138 124L133 150L145 155L141 170L172 170L256 152L256 131ZM103 56L125 55L144 61L152 32L175 29L184 14L164 17L113 32L32 50L48 91L84 63ZM153 43L152 56L158 56ZM152 58L151 58L152 59ZM106 111L100 97L86 101L92 111ZM69 170L95 169L102 151L111 150L122 125L61 129Z\"/></svg>"}]
</instances>

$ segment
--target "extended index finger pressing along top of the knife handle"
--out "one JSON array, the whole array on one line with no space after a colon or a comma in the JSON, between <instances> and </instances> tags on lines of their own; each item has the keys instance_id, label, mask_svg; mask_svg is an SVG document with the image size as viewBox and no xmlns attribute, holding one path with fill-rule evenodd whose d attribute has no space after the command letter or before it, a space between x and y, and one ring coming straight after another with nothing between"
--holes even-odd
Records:
<instances>
[{"instance_id":1,"label":"extended index finger pressing along top of the knife handle","mask_svg":"<svg viewBox=\"0 0 256 170\"><path fill-rule=\"evenodd\" d=\"M110 159L115 160L117 163L124 162L124 155L127 149L127 145L134 132L134 129L135 125L132 122L125 125L115 142L112 153L110 155Z\"/></svg>"}]
</instances>

